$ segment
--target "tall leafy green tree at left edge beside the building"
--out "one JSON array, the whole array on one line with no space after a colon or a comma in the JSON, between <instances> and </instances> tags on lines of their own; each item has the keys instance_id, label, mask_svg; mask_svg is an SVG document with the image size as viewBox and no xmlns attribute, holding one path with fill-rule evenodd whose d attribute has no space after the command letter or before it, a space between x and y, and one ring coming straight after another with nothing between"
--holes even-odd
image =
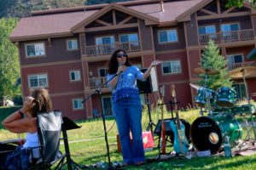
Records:
<instances>
[{"instance_id":1,"label":"tall leafy green tree at left edge beside the building","mask_svg":"<svg viewBox=\"0 0 256 170\"><path fill-rule=\"evenodd\" d=\"M0 101L20 95L18 48L9 41L9 35L17 25L17 19L0 19Z\"/></svg>"}]
</instances>

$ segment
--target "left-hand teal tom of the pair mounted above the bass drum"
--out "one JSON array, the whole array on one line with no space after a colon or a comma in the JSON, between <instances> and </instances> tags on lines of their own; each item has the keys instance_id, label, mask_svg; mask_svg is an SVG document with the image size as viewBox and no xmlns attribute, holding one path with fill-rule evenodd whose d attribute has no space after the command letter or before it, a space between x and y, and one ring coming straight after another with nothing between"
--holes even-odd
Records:
<instances>
[{"instance_id":1,"label":"left-hand teal tom of the pair mounted above the bass drum","mask_svg":"<svg viewBox=\"0 0 256 170\"><path fill-rule=\"evenodd\" d=\"M210 98L211 105L213 105L214 95L215 92L210 88L199 88L197 90L197 95L195 96L195 103L200 107L204 107L207 104L206 97L208 96Z\"/></svg>"}]
</instances>

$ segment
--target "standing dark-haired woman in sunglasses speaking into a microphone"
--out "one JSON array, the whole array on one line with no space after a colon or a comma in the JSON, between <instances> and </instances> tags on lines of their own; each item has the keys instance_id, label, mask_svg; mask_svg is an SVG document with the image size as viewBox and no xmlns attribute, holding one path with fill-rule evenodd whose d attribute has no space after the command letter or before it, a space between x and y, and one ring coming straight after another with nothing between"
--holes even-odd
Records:
<instances>
[{"instance_id":1,"label":"standing dark-haired woman in sunglasses speaking into a microphone","mask_svg":"<svg viewBox=\"0 0 256 170\"><path fill-rule=\"evenodd\" d=\"M160 60L154 60L144 73L131 65L125 50L118 49L108 65L108 82L112 90L112 110L115 116L122 148L124 166L141 165L145 162L142 137L142 103L136 80L146 81L153 66ZM132 144L130 142L130 131Z\"/></svg>"}]
</instances>

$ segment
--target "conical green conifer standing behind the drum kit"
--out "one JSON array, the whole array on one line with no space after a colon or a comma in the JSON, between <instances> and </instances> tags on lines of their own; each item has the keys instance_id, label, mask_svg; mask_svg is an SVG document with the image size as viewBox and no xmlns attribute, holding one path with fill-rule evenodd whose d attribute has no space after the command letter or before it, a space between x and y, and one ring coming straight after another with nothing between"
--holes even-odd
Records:
<instances>
[{"instance_id":1,"label":"conical green conifer standing behind the drum kit","mask_svg":"<svg viewBox=\"0 0 256 170\"><path fill-rule=\"evenodd\" d=\"M209 77L207 77L207 88L212 88L213 90L221 87L231 88L232 82L230 81L229 72L226 67L227 62L224 57L219 54L219 48L212 40L208 42L201 56L201 66L203 68L219 71L218 75L209 75ZM201 86L204 86L205 76L201 75L200 77L200 84Z\"/></svg>"}]
</instances>

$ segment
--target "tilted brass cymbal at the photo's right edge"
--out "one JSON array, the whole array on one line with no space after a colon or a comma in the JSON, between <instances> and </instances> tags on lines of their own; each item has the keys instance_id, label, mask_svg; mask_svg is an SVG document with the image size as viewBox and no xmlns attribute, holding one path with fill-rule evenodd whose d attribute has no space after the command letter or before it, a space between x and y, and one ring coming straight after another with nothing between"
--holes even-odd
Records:
<instances>
[{"instance_id":1,"label":"tilted brass cymbal at the photo's right edge","mask_svg":"<svg viewBox=\"0 0 256 170\"><path fill-rule=\"evenodd\" d=\"M256 67L255 66L244 66L236 68L229 72L232 79L241 79L256 77Z\"/></svg>"}]
</instances>

